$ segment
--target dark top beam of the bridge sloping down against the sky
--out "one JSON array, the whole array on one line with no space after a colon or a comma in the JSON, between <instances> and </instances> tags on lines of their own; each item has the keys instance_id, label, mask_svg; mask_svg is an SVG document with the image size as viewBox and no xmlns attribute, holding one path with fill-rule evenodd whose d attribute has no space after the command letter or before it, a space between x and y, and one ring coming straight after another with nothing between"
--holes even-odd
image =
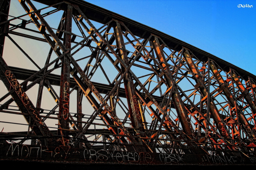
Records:
<instances>
[{"instance_id":1,"label":"dark top beam of the bridge sloping down against the sky","mask_svg":"<svg viewBox=\"0 0 256 170\"><path fill-rule=\"evenodd\" d=\"M61 3L62 0L54 0L54 1L50 1L50 0L35 0L36 2L45 4L45 5L54 5L57 3ZM136 22L132 19L129 19L125 16L121 16L119 14L116 14L112 11L103 9L99 6L93 5L91 3L88 3L86 1L83 0L67 0L66 2L69 2L71 4L75 4L78 5L81 10L83 11L83 13L88 17L88 19L91 19L93 21L105 24L107 22L109 22L112 19L116 19L118 21L122 21L125 25L128 26L128 28L134 33L134 35L141 37L141 38L147 38L149 37L151 34L154 34L156 36L161 37L161 39L164 40L164 42L171 47L173 50L181 50L182 47L186 47L188 49L191 50L191 52L193 52L194 55L196 55L200 60L207 60L207 58L211 58L213 60L215 60L215 62L217 62L217 64L222 67L225 71L229 71L229 67L237 70L239 73L241 73L240 75L245 78L248 79L247 76L250 76L252 78L256 78L255 75L251 74L250 72L243 70L231 63L228 63L227 61L218 58L206 51L203 51L191 44L188 44L184 41L181 41L175 37L172 37L168 34L165 34L161 31L158 31L154 28L148 27L142 23ZM55 8L61 8L59 6L53 6ZM95 17L97 16L97 17Z\"/></svg>"}]
</instances>

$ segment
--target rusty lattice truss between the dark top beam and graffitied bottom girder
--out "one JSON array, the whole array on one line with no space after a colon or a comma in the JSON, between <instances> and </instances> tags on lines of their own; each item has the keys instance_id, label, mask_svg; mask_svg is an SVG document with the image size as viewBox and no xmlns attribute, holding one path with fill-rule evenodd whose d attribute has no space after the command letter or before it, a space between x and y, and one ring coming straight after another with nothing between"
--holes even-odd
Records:
<instances>
[{"instance_id":1,"label":"rusty lattice truss between the dark top beam and graffitied bottom girder","mask_svg":"<svg viewBox=\"0 0 256 170\"><path fill-rule=\"evenodd\" d=\"M0 2L2 143L255 155L254 75L83 1Z\"/></svg>"}]
</instances>

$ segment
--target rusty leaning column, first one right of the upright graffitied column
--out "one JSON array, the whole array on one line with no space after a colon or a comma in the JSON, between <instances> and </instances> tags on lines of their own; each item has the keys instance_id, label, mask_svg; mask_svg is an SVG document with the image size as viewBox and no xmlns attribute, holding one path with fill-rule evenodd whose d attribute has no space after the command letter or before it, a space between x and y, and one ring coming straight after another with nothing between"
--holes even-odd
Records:
<instances>
[{"instance_id":1,"label":"rusty leaning column, first one right of the upright graffitied column","mask_svg":"<svg viewBox=\"0 0 256 170\"><path fill-rule=\"evenodd\" d=\"M121 50L121 49L125 50L125 44L124 44L121 26L120 26L120 23L118 22L116 22L116 27L114 27L114 33L115 33L115 39L116 39L116 46L120 48L118 53L122 58L122 60L125 62L125 64L129 65L126 51ZM122 72L125 72L125 71L126 71L126 68L122 66ZM132 76L129 72L124 77L124 88L125 88L125 94L127 98L128 107L129 107L132 126L139 128L140 135L145 137L146 134L145 134L144 125L142 123L140 107L138 105L137 95L134 88Z\"/></svg>"}]
</instances>

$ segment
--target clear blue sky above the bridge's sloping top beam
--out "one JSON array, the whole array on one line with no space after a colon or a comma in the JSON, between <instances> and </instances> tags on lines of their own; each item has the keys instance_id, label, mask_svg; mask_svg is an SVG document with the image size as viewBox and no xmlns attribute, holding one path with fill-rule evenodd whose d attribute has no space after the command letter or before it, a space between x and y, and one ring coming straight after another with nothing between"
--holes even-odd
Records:
<instances>
[{"instance_id":1,"label":"clear blue sky above the bridge's sloping top beam","mask_svg":"<svg viewBox=\"0 0 256 170\"><path fill-rule=\"evenodd\" d=\"M256 75L256 1L87 0ZM253 5L251 8L238 7Z\"/></svg>"}]
</instances>

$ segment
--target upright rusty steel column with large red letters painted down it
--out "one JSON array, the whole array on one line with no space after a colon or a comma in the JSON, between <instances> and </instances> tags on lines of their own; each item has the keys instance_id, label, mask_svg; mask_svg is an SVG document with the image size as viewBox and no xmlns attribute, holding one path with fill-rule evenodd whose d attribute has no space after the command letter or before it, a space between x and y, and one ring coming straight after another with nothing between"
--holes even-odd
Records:
<instances>
[{"instance_id":1,"label":"upright rusty steel column with large red letters painted down it","mask_svg":"<svg viewBox=\"0 0 256 170\"><path fill-rule=\"evenodd\" d=\"M71 32L72 27L72 6L67 6L65 14L64 30ZM67 49L71 48L71 35L64 33L63 45ZM70 53L70 52L69 52ZM69 129L69 84L70 84L70 60L67 55L62 58L61 64L61 76L60 76L60 101L59 101L59 118L60 125L58 129L58 135L68 136ZM64 143L65 145L65 143Z\"/></svg>"}]
</instances>

